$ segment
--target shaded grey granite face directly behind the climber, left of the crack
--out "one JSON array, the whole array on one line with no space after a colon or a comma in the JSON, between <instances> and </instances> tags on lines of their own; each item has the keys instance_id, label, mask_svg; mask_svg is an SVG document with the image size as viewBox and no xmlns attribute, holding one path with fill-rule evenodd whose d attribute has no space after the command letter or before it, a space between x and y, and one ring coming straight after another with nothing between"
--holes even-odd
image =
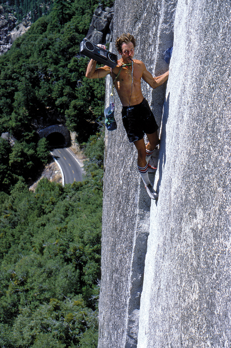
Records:
<instances>
[{"instance_id":1,"label":"shaded grey granite face directly behind the climber, left of the crack","mask_svg":"<svg viewBox=\"0 0 231 348\"><path fill-rule=\"evenodd\" d=\"M162 15L159 16L159 10ZM173 44L176 1L115 2L113 46L118 35L137 37L135 57L160 75L168 70L163 59ZM147 26L148 23L148 26ZM148 30L147 30L148 29ZM110 77L107 79L109 85ZM110 81L111 83L111 81ZM144 96L161 125L166 84L156 90L143 85ZM107 87L107 104L111 87ZM115 92L116 94L116 92ZM102 228L102 281L99 298L99 348L137 346L140 296L150 223L149 198L137 170L137 154L129 144L116 95L118 128L105 135L105 174ZM153 182L154 175L150 174Z\"/></svg>"}]
</instances>

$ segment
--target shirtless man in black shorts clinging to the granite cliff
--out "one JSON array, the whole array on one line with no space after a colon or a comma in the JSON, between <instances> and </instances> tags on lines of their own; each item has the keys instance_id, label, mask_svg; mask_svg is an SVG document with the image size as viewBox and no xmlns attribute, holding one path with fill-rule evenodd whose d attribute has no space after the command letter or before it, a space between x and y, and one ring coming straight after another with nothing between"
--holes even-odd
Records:
<instances>
[{"instance_id":1,"label":"shirtless man in black shorts clinging to the granite cliff","mask_svg":"<svg viewBox=\"0 0 231 348\"><path fill-rule=\"evenodd\" d=\"M158 125L141 91L141 78L152 88L157 88L168 79L168 71L159 77L152 77L143 62L133 60L135 46L135 38L129 33L117 38L116 47L121 58L117 66L112 69L112 80L123 106L122 121L129 142L134 143L138 152L138 170L149 196L157 199L158 194L153 190L148 176L148 161L160 140L157 133ZM110 73L111 69L106 65L96 69L96 61L91 59L87 66L86 77L96 79ZM149 140L146 146L144 134Z\"/></svg>"}]
</instances>

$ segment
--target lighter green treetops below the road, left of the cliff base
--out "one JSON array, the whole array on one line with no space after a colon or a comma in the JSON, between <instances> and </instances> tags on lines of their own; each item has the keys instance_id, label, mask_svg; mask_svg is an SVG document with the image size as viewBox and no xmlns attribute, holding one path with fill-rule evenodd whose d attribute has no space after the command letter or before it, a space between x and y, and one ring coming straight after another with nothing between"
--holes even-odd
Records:
<instances>
[{"instance_id":1,"label":"lighter green treetops below the road, left of the cliff base","mask_svg":"<svg viewBox=\"0 0 231 348\"><path fill-rule=\"evenodd\" d=\"M0 193L0 347L97 347L103 134L83 182Z\"/></svg>"}]
</instances>

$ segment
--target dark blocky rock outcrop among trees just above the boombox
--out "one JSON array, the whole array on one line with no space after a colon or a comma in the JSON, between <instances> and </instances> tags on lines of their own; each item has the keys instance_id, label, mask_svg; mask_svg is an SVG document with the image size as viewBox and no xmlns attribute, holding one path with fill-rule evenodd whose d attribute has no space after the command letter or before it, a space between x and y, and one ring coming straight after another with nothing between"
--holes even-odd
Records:
<instances>
[{"instance_id":1,"label":"dark blocky rock outcrop among trees just above the boombox","mask_svg":"<svg viewBox=\"0 0 231 348\"><path fill-rule=\"evenodd\" d=\"M112 40L114 7L99 5L93 15L86 39L94 44L108 44Z\"/></svg>"}]
</instances>

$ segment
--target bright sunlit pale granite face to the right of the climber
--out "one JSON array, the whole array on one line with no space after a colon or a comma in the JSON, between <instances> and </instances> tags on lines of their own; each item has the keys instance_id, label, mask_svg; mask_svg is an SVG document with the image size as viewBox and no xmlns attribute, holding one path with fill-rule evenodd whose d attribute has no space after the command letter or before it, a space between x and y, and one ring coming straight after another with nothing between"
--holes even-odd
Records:
<instances>
[{"instance_id":1,"label":"bright sunlit pale granite face to the right of the climber","mask_svg":"<svg viewBox=\"0 0 231 348\"><path fill-rule=\"evenodd\" d=\"M230 18L178 1L138 348L231 347Z\"/></svg>"}]
</instances>

